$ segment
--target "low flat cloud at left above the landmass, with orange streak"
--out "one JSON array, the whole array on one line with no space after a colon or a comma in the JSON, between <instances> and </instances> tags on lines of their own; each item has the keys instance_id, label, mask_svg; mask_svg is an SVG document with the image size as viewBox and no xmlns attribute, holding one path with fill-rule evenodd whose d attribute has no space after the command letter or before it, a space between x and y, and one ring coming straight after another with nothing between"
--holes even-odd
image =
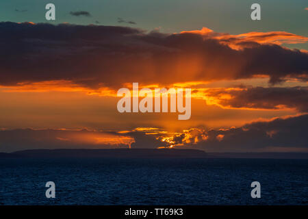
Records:
<instances>
[{"instance_id":1,"label":"low flat cloud at left above the landmass, with orange streak","mask_svg":"<svg viewBox=\"0 0 308 219\"><path fill-rule=\"evenodd\" d=\"M110 149L129 148L133 138L114 131L63 129L14 129L0 131L0 151L25 149Z\"/></svg>"}]
</instances>

